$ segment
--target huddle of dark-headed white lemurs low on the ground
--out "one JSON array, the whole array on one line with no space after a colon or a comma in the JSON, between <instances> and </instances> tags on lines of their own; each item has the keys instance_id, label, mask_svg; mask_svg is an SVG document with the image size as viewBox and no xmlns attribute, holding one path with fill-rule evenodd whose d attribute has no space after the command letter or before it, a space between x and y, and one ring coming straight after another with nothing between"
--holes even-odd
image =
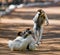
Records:
<instances>
[{"instance_id":1,"label":"huddle of dark-headed white lemurs low on the ground","mask_svg":"<svg viewBox=\"0 0 60 55\"><path fill-rule=\"evenodd\" d=\"M22 32L18 32L18 37L14 40L9 40L8 46L13 50L35 50L35 40L32 37L32 32L27 29Z\"/></svg>"}]
</instances>

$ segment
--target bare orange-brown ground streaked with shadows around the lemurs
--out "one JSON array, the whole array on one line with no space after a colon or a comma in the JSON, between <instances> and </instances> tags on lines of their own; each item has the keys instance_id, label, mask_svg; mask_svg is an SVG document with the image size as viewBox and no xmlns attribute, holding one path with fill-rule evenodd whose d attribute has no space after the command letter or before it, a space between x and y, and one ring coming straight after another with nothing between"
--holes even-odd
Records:
<instances>
[{"instance_id":1,"label":"bare orange-brown ground streaked with shadows around the lemurs","mask_svg":"<svg viewBox=\"0 0 60 55\"><path fill-rule=\"evenodd\" d=\"M0 18L0 55L60 55L60 7L43 7L49 17L49 26L44 27L42 43L35 51L10 51L8 40L18 31L33 28L33 17L40 7L15 9L10 15Z\"/></svg>"}]
</instances>

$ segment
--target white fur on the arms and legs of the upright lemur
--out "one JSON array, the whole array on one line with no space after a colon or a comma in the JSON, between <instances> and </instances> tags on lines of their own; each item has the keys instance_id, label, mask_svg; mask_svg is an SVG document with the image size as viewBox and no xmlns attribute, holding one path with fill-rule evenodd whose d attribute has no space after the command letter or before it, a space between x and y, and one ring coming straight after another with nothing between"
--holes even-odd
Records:
<instances>
[{"instance_id":1,"label":"white fur on the arms and legs of the upright lemur","mask_svg":"<svg viewBox=\"0 0 60 55\"><path fill-rule=\"evenodd\" d=\"M41 38L42 38L42 33L43 33L43 26L44 26L44 25L41 25L40 28L37 27L36 21L38 19L39 14L41 14L41 13L37 12L35 17L33 18L33 21L34 21L33 31L34 31L34 35L35 35L35 39L36 39L37 44L40 44L40 41L41 41ZM46 24L48 25L48 17L47 17L45 12L44 12L44 15L45 15ZM38 28L38 30L36 30L36 28Z\"/></svg>"}]
</instances>

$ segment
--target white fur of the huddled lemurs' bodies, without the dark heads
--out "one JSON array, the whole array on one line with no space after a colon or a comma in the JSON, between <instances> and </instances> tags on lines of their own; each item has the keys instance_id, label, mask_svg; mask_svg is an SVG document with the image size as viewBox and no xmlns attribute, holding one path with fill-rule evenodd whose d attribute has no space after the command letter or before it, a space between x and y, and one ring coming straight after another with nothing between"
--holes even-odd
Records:
<instances>
[{"instance_id":1,"label":"white fur of the huddled lemurs' bodies, without the dark heads","mask_svg":"<svg viewBox=\"0 0 60 55\"><path fill-rule=\"evenodd\" d=\"M8 42L8 46L12 51L13 50L26 50L28 44L29 44L30 50L35 49L35 41L31 35L29 35L25 39L23 37L17 37L13 41L9 40Z\"/></svg>"}]
</instances>

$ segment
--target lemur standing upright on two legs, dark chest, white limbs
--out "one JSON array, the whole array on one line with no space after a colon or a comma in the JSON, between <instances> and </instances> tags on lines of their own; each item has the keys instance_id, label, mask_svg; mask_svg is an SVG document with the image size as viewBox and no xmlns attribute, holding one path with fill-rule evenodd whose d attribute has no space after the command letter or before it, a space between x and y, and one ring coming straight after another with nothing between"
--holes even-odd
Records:
<instances>
[{"instance_id":1,"label":"lemur standing upright on two legs, dark chest, white limbs","mask_svg":"<svg viewBox=\"0 0 60 55\"><path fill-rule=\"evenodd\" d=\"M36 39L36 44L39 45L42 38L43 26L45 21L47 25L49 24L48 17L42 9L39 9L37 11L37 14L33 18L33 21L34 21L33 31Z\"/></svg>"}]
</instances>

